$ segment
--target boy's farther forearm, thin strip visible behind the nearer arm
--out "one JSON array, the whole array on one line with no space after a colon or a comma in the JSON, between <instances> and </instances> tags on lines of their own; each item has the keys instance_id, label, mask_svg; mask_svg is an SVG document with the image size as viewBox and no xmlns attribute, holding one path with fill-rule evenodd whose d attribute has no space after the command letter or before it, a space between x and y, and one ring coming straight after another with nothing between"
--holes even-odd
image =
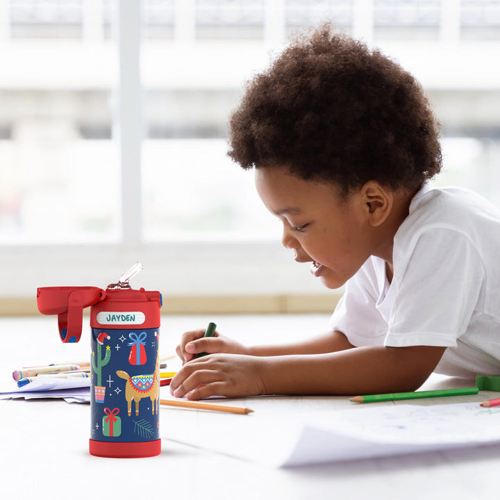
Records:
<instances>
[{"instance_id":1,"label":"boy's farther forearm, thin strip visible behind the nearer arm","mask_svg":"<svg viewBox=\"0 0 500 500\"><path fill-rule=\"evenodd\" d=\"M295 344L249 347L248 352L251 356L290 356L294 354L331 353L353 347L343 333L330 331L321 337Z\"/></svg>"}]
</instances>

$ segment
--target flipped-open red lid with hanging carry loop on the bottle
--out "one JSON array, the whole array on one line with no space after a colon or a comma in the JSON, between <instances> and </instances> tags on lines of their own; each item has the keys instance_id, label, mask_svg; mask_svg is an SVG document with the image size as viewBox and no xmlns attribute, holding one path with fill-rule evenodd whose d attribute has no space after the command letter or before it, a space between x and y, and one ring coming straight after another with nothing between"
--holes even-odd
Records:
<instances>
[{"instance_id":1,"label":"flipped-open red lid with hanging carry loop on the bottle","mask_svg":"<svg viewBox=\"0 0 500 500\"><path fill-rule=\"evenodd\" d=\"M58 315L59 335L63 342L78 342L81 337L83 309L100 302L106 292L97 287L38 288L38 310Z\"/></svg>"}]
</instances>

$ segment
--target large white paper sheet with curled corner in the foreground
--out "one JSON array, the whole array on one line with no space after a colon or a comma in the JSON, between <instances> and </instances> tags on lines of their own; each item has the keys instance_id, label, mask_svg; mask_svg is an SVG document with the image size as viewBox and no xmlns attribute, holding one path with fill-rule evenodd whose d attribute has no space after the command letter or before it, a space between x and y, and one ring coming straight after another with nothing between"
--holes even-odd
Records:
<instances>
[{"instance_id":1,"label":"large white paper sheet with curled corner in the foreground","mask_svg":"<svg viewBox=\"0 0 500 500\"><path fill-rule=\"evenodd\" d=\"M183 419L162 437L276 467L500 443L500 408L360 406L301 415Z\"/></svg>"}]
</instances>

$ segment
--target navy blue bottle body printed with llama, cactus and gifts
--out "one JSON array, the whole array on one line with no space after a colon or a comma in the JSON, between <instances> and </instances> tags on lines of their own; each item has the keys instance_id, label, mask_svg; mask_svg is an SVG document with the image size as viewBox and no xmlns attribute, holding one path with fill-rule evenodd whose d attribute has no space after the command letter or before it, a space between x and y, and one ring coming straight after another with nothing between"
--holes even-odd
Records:
<instances>
[{"instance_id":1,"label":"navy blue bottle body printed with llama, cactus and gifts","mask_svg":"<svg viewBox=\"0 0 500 500\"><path fill-rule=\"evenodd\" d=\"M159 439L159 328L92 328L90 439Z\"/></svg>"}]
</instances>

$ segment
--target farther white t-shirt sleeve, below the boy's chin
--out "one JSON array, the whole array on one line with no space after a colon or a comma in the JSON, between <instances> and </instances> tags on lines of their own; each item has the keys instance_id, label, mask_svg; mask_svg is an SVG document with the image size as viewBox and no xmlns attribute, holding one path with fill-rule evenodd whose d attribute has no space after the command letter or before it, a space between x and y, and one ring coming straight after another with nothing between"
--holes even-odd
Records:
<instances>
[{"instance_id":1,"label":"farther white t-shirt sleeve, below the boy's chin","mask_svg":"<svg viewBox=\"0 0 500 500\"><path fill-rule=\"evenodd\" d=\"M346 288L330 319L333 330L346 335L353 346L383 345L387 323L376 309L376 272L372 259L346 283Z\"/></svg>"}]
</instances>

